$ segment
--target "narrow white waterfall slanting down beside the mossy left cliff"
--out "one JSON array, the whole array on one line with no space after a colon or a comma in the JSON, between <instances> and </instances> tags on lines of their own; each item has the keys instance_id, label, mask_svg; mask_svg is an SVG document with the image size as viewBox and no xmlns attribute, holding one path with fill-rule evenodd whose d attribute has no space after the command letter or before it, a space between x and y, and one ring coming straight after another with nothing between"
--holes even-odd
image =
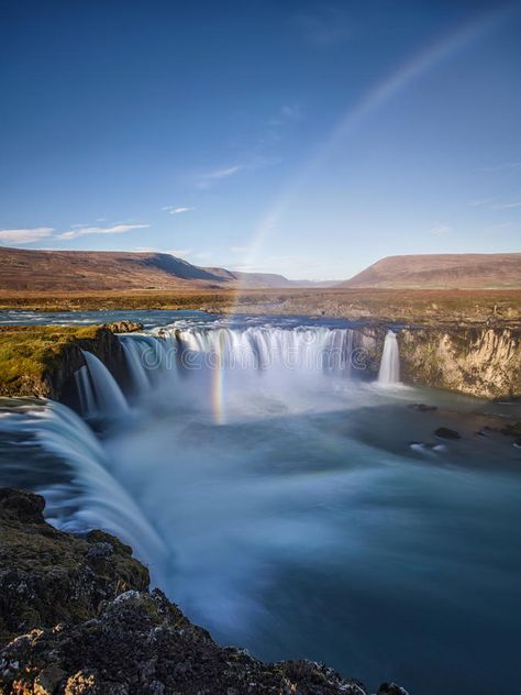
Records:
<instances>
[{"instance_id":1,"label":"narrow white waterfall slanting down beside the mossy left cliff","mask_svg":"<svg viewBox=\"0 0 521 695\"><path fill-rule=\"evenodd\" d=\"M77 376L77 384L79 385L81 404L85 404L87 408L87 415L117 416L126 412L129 409L126 399L109 369L92 353L82 350L81 354L87 364L88 375L81 371L85 367L81 367Z\"/></svg>"}]
</instances>

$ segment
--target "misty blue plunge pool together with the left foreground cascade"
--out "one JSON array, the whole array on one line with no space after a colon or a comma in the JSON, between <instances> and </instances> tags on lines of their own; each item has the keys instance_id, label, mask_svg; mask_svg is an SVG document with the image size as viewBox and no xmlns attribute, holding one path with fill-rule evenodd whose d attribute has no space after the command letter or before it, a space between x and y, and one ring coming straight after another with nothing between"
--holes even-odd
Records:
<instances>
[{"instance_id":1,"label":"misty blue plunge pool together with the left foreground cascade","mask_svg":"<svg viewBox=\"0 0 521 695\"><path fill-rule=\"evenodd\" d=\"M199 330L219 318L155 312L144 322L173 321ZM325 661L373 688L395 680L419 695L518 692L521 451L477 433L519 418L518 407L356 374L221 377L219 421L204 369L162 374L140 397L122 384L130 413L91 422L96 434L74 415L65 424L60 410L11 410L0 418L0 482L44 490L55 523L125 537L222 643ZM435 439L440 426L462 439Z\"/></svg>"}]
</instances>

